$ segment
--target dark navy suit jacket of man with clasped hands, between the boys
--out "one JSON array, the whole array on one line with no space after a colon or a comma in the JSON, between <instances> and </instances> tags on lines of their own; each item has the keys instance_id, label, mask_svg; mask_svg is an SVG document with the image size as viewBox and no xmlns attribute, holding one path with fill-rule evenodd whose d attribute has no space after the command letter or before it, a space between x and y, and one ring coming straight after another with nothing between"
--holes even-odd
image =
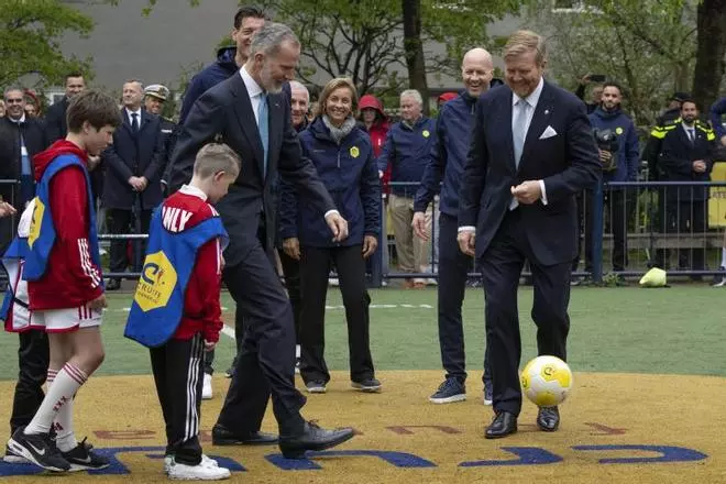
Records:
<instances>
[{"instance_id":1,"label":"dark navy suit jacket of man with clasped hands, between the boys","mask_svg":"<svg viewBox=\"0 0 726 484\"><path fill-rule=\"evenodd\" d=\"M101 155L106 170L103 207L131 210L136 193L129 185L132 176L144 176L148 186L141 193L141 206L151 210L162 202L161 177L164 169L164 138L160 117L141 110L139 132L134 134L125 110L123 123L113 133L113 144Z\"/></svg>"}]
</instances>

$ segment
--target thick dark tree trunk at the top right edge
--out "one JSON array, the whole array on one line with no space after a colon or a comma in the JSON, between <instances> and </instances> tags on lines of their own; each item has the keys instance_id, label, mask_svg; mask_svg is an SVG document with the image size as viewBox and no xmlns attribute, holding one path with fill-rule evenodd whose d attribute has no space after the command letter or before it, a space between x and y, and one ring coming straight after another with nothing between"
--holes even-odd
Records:
<instances>
[{"instance_id":1,"label":"thick dark tree trunk at the top right edge","mask_svg":"<svg viewBox=\"0 0 726 484\"><path fill-rule=\"evenodd\" d=\"M726 55L726 0L698 4L698 46L693 75L693 98L706 111L718 98Z\"/></svg>"}]
</instances>

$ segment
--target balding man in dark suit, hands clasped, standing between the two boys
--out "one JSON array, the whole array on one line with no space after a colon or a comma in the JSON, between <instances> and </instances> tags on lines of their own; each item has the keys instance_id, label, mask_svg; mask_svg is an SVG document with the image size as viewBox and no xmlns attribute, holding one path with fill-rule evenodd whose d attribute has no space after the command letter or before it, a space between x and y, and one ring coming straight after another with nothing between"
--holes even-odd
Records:
<instances>
[{"instance_id":1,"label":"balding man in dark suit, hands clasped, standing between the two boys","mask_svg":"<svg viewBox=\"0 0 726 484\"><path fill-rule=\"evenodd\" d=\"M141 108L143 87L138 80L123 85L123 124L113 133L113 144L102 155L106 165L103 207L110 233L148 232L152 210L162 201L164 138L161 119ZM132 220L135 222L132 228ZM135 244L135 251L143 248ZM122 273L129 265L125 240L111 241L110 270ZM143 253L143 252L141 252ZM120 287L112 278L107 290Z\"/></svg>"}]
</instances>

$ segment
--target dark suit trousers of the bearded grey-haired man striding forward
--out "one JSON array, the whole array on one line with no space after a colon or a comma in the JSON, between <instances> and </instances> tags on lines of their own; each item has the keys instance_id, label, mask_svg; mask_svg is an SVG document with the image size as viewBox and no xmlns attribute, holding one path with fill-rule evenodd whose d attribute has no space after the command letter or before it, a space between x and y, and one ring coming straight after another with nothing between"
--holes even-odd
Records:
<instances>
[{"instance_id":1,"label":"dark suit trousers of the bearded grey-haired man striding forward","mask_svg":"<svg viewBox=\"0 0 726 484\"><path fill-rule=\"evenodd\" d=\"M239 435L260 430L272 394L279 432L300 432L306 399L295 388L293 309L261 242L222 277L243 328L237 331L240 351L218 424Z\"/></svg>"}]
</instances>

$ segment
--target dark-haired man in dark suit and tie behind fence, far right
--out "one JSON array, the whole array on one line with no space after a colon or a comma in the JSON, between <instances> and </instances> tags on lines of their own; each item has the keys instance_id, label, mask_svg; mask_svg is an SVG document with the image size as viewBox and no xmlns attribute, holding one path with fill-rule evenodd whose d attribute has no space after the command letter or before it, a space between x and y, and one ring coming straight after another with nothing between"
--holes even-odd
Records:
<instances>
[{"instance_id":1,"label":"dark-haired man in dark suit and tie behind fence, far right","mask_svg":"<svg viewBox=\"0 0 726 484\"><path fill-rule=\"evenodd\" d=\"M710 182L717 146L716 133L698 120L698 109L692 99L682 101L680 113L681 122L663 129L658 165L668 182ZM706 231L706 200L707 187L669 187L666 191L666 231L702 235ZM663 258L666 262L668 252ZM678 263L681 270L704 271L705 250L680 249Z\"/></svg>"}]
</instances>

